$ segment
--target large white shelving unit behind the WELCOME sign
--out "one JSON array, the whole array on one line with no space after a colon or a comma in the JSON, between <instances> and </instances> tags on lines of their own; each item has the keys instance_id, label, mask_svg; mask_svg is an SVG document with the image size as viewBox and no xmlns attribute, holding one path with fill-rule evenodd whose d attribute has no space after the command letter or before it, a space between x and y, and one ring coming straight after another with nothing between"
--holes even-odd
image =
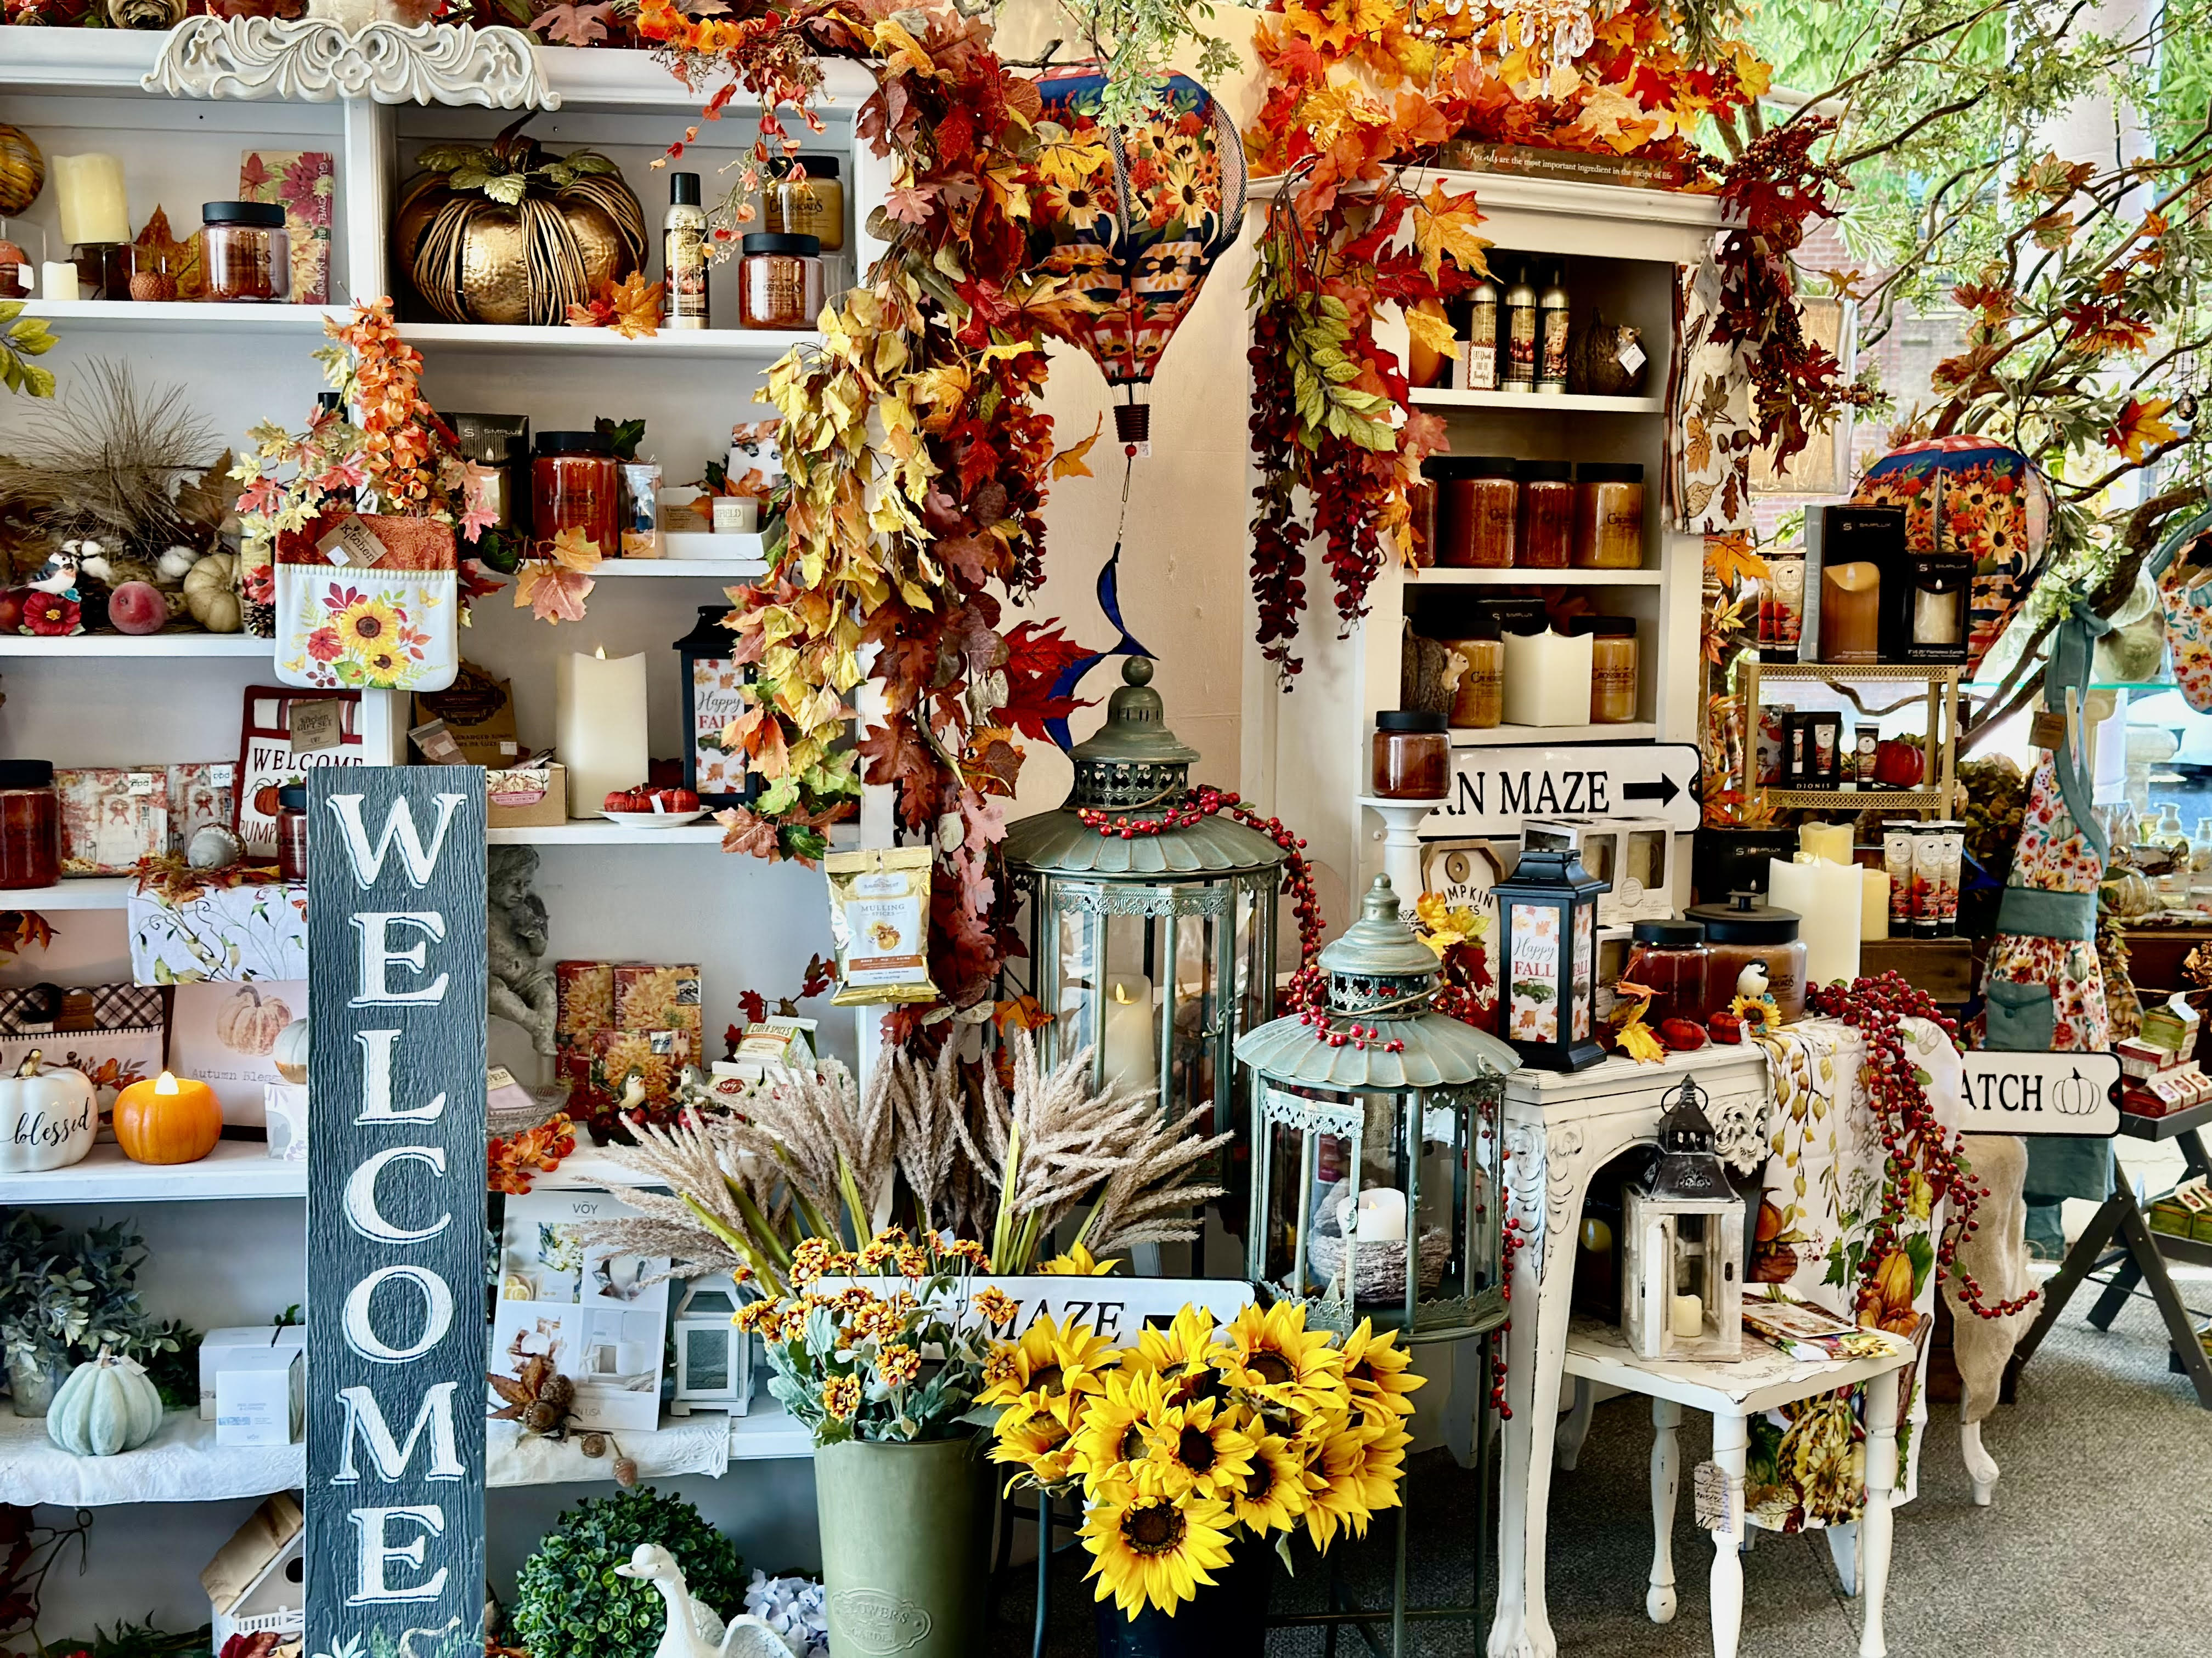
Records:
<instances>
[{"instance_id":1,"label":"large white shelving unit behind the WELCOME sign","mask_svg":"<svg viewBox=\"0 0 2212 1658\"><path fill-rule=\"evenodd\" d=\"M69 396L75 374L95 356L126 358L139 385L164 389L201 416L215 449L241 447L259 420L299 427L323 385L312 351L325 343L325 323L347 316L352 298L396 294L387 243L392 203L427 144L487 141L518 111L438 104L385 106L361 99L252 102L188 99L144 91L164 35L113 29L0 31L0 122L24 128L49 155L104 150L122 157L133 228L155 206L168 210L173 232L190 234L199 203L237 195L243 150L323 150L334 157L332 301L330 305L137 305L35 301L58 336L42 358ZM591 146L608 155L637 192L650 239L668 201L668 179L653 161L697 119L712 86L686 88L648 53L540 49L540 73L557 97L526 128L546 148L566 153ZM874 91L858 64L827 62L818 97L823 130L807 150L836 153L849 201L845 256L867 270L880 245L867 234L869 206L889 192L887 164L856 139L854 122ZM726 108L726 119L701 128L688 146L686 170L714 186L714 175L750 144L757 108L750 95ZM55 190L9 221L18 241L44 239L44 256L62 254ZM40 250L31 248L33 259ZM648 279L657 279L659 256ZM737 318L734 261L712 279L717 321ZM588 427L595 416L648 422L646 453L664 466L668 484L701 475L719 460L728 429L770 413L757 402L768 367L812 332L752 332L717 327L624 340L608 329L575 327L460 327L400 303L400 334L425 356L425 396L440 411L526 413L535 429ZM173 389L173 391L170 391ZM0 398L0 449L40 407ZM210 449L212 460L212 449ZM765 570L763 537L670 535L668 557L608 562L582 623L549 628L511 595L476 604L462 654L513 688L520 738L529 747L553 743L553 674L560 652L646 652L650 749L679 747L679 688L675 639L692 630L699 608L721 601L721 590ZM241 696L248 685L272 685L272 646L265 639L197 632L126 639L0 639L0 754L42 756L58 765L148 765L166 760L228 760L239 752ZM394 694L365 696L365 756L396 763L405 756L409 707ZM546 962L560 957L699 962L708 1026L719 1030L737 995L759 988L781 995L796 986L814 948L825 944L821 873L796 864L763 864L719 851L721 827L710 818L679 829L626 829L604 820L575 820L546 829L491 831L495 844L529 844L540 853L535 889L551 913ZM838 840L856 844L847 825ZM73 880L33 893L4 893L0 906L40 909L55 917L60 940L51 957L38 953L7 966L11 982L55 977L95 984L128 977L119 911L133 882ZM849 1026L825 1026L832 1048L849 1041ZM849 1057L849 1050L847 1050ZM549 1189L584 1189L613 1167L580 1152ZM259 1143L223 1141L201 1163L144 1167L115 1147L100 1147L73 1169L0 1180L0 1205L53 1211L69 1225L131 1218L153 1249L146 1271L148 1304L159 1315L186 1318L197 1329L259 1324L301 1298L305 1273L303 1163L268 1158ZM226 1205L208 1211L208 1203ZM179 1428L164 1450L175 1483L168 1501L259 1497L296 1486L301 1468L288 1463L243 1472L232 1452L199 1444ZM27 1430L29 1428L29 1430ZM0 1501L119 1501L71 1483L82 1470L53 1466L33 1479L31 1457L18 1441L44 1444L38 1424L15 1426L0 1408ZM164 1428L164 1437L170 1430ZM805 1457L810 1439L770 1399L732 1421L730 1457L772 1461ZM294 1461L299 1448L292 1448ZM128 1459L108 1459L111 1463ZM46 1468L42 1461L40 1468ZM106 1470L111 1475L124 1468ZM770 1488L728 1481L728 1490L690 1488L717 1523L737 1534L748 1554L779 1554L781 1539L750 1528L761 1514L805 1510L805 1470L759 1470L750 1479L783 1481ZM584 1490L557 1501L582 1497ZM557 1503L555 1503L557 1505ZM113 1623L117 1607L133 1616L153 1612L164 1627L206 1620L197 1572L212 1552L208 1519L192 1510L150 1508L131 1514L106 1510L95 1539L93 1570L69 1583L49 1583L49 1627ZM520 1559L551 1519L526 1497L491 1505L493 1561ZM223 1521L223 1530L228 1528ZM113 1530L122 1528L122 1530ZM128 1543L124 1543L128 1539ZM122 1547L119 1547L122 1545ZM504 1589L504 1581L500 1585Z\"/></svg>"}]
</instances>

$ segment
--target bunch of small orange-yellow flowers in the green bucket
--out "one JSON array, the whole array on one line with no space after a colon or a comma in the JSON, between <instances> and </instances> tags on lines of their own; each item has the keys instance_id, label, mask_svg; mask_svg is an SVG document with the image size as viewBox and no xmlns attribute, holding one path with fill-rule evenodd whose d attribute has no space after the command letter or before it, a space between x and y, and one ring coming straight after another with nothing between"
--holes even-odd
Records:
<instances>
[{"instance_id":1,"label":"bunch of small orange-yellow flowers in the green bucket","mask_svg":"<svg viewBox=\"0 0 2212 1658\"><path fill-rule=\"evenodd\" d=\"M748 1302L737 1326L759 1335L774 1375L768 1391L814 1433L816 1446L845 1439L958 1439L991 1353L991 1329L1011 1324L1015 1302L998 1289L967 1293L982 1267L978 1242L902 1227L860 1249L807 1238L792 1253L790 1293ZM905 1280L889 1293L823 1280Z\"/></svg>"}]
</instances>

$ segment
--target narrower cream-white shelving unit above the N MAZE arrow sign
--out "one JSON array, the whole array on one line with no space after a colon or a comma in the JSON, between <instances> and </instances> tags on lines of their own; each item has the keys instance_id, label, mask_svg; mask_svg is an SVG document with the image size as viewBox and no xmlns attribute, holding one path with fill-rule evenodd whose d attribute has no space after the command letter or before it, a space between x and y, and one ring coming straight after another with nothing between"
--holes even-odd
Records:
<instances>
[{"instance_id":1,"label":"narrower cream-white shelving unit above the N MAZE arrow sign","mask_svg":"<svg viewBox=\"0 0 2212 1658\"><path fill-rule=\"evenodd\" d=\"M1548 274L1564 265L1575 318L1601 309L1644 334L1646 393L1537 396L1522 391L1416 389L1413 407L1442 416L1455 455L1515 460L1606 460L1644 466L1644 548L1639 570L1405 570L1387 562L1367 590L1369 612L1338 639L1327 581L1307 577L1307 612L1296 652L1305 661L1290 696L1272 668L1245 652L1245 794L1270 811L1296 811L1310 856L1325 871L1323 906L1340 913L1383 871L1385 829L1354 800L1369 778L1374 714L1400 707L1402 634L1464 637L1469 606L1486 590L1564 588L1601 615L1635 617L1639 628L1637 718L1621 725L1453 727L1458 749L1568 743L1694 743L1699 718L1697 652L1681 650L1699 628L1703 537L1674 533L1661 513L1666 469L1668 360L1674 338L1674 272L1692 263L1721 228L1712 197L1635 190L1493 172L1418 170L1411 190L1431 181L1447 192L1473 190L1491 270L1500 287L1520 263ZM1254 212L1265 212L1276 181L1254 183ZM1542 285L1542 281L1537 283ZM1383 345L1405 358L1405 325L1376 321ZM1343 802L1343 805L1332 805Z\"/></svg>"}]
</instances>

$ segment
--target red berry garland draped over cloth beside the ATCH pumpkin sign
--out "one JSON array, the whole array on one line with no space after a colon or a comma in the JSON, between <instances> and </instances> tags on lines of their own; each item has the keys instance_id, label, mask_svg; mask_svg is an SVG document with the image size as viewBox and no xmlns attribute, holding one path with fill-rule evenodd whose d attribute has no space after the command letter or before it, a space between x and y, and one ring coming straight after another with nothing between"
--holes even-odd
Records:
<instances>
[{"instance_id":1,"label":"red berry garland draped over cloth beside the ATCH pumpkin sign","mask_svg":"<svg viewBox=\"0 0 2212 1658\"><path fill-rule=\"evenodd\" d=\"M1975 1216L1989 1187L1966 1169L1964 1136L1951 1134L1936 1121L1936 1108L1920 1083L1920 1068L1905 1052L1900 1021L1927 1019L1953 1041L1958 1041L1958 1026L1924 990L1898 973L1858 979L1851 986L1818 986L1805 999L1814 1012L1849 1024L1867 1046L1860 1081L1882 1136L1885 1161L1882 1209L1874 1220L1865 1265L1858 1271L1860 1295L1878 1293L1876 1276L1905 1231L1907 1196L1913 1176L1920 1174L1929 1183L1931 1203L1951 1200L1951 1218L1936 1240L1936 1267L1942 1276L1958 1280L1966 1307L1980 1318L2011 1318L2028 1307L2035 1300L2033 1289L2008 1302L1989 1302L1973 1273L1958 1265L1958 1245L1980 1227Z\"/></svg>"}]
</instances>

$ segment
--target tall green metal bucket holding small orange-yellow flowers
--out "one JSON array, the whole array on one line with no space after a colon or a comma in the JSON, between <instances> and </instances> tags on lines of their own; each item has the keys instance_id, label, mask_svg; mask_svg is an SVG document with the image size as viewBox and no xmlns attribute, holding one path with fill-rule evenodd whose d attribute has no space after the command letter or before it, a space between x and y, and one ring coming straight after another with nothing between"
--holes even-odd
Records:
<instances>
[{"instance_id":1,"label":"tall green metal bucket holding small orange-yellow flowers","mask_svg":"<svg viewBox=\"0 0 2212 1658\"><path fill-rule=\"evenodd\" d=\"M982 1651L991 1477L973 1437L823 1446L814 1503L838 1658Z\"/></svg>"}]
</instances>

